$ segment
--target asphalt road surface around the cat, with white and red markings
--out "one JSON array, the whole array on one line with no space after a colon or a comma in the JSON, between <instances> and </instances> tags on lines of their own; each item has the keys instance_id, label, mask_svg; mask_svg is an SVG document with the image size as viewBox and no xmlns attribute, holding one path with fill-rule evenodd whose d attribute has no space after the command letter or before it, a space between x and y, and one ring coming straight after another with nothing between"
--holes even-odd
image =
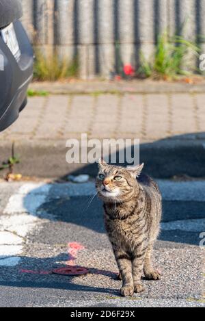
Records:
<instances>
[{"instance_id":1,"label":"asphalt road surface around the cat, with white and red markings","mask_svg":"<svg viewBox=\"0 0 205 321\"><path fill-rule=\"evenodd\" d=\"M205 307L205 182L159 184L163 277L121 298L94 183L0 183L0 307ZM90 273L51 274L68 265Z\"/></svg>"}]
</instances>

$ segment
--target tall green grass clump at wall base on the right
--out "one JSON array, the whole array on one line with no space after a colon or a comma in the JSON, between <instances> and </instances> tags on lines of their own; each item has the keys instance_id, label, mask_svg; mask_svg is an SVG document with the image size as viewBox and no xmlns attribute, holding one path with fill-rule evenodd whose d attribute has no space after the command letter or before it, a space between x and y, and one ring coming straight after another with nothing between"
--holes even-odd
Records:
<instances>
[{"instance_id":1,"label":"tall green grass clump at wall base on the right","mask_svg":"<svg viewBox=\"0 0 205 321\"><path fill-rule=\"evenodd\" d=\"M138 74L155 79L176 79L178 76L189 76L197 68L191 66L190 56L198 57L200 48L181 36L169 38L167 33L159 36L154 57L146 60L141 53L141 66Z\"/></svg>"}]
</instances>

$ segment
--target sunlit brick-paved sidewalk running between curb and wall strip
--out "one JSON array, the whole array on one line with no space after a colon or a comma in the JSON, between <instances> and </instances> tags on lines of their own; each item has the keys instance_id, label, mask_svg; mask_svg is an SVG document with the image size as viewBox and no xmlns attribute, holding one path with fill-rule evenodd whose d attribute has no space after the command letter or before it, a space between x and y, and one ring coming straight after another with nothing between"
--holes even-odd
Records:
<instances>
[{"instance_id":1,"label":"sunlit brick-paved sidewalk running between curb and wall strip","mask_svg":"<svg viewBox=\"0 0 205 321\"><path fill-rule=\"evenodd\" d=\"M0 140L159 140L205 129L205 94L87 94L33 97ZM202 138L203 135L201 136Z\"/></svg>"}]
</instances>

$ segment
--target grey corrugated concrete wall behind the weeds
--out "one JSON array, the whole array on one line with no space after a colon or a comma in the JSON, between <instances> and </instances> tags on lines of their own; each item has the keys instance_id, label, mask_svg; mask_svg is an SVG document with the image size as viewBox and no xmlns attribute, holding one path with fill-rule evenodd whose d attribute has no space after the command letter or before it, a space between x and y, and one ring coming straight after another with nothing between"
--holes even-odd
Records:
<instances>
[{"instance_id":1,"label":"grey corrugated concrete wall behind the weeds","mask_svg":"<svg viewBox=\"0 0 205 321\"><path fill-rule=\"evenodd\" d=\"M136 65L139 52L152 55L159 33L205 34L205 0L22 0L23 23L47 50L72 61L82 78L109 77L123 64ZM205 46L202 43L202 47Z\"/></svg>"}]
</instances>

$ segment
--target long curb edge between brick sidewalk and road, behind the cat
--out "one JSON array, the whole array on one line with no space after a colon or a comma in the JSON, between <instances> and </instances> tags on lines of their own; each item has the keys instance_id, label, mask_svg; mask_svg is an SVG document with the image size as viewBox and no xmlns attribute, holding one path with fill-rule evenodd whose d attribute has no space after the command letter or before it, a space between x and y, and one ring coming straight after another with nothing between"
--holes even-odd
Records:
<instances>
[{"instance_id":1,"label":"long curb edge between brick sidewalk and road, behind the cat","mask_svg":"<svg viewBox=\"0 0 205 321\"><path fill-rule=\"evenodd\" d=\"M8 159L12 142L0 142L1 162ZM59 178L66 175L96 176L96 164L67 164L66 141L16 141L15 152L20 164L15 172L38 178ZM180 175L205 177L205 140L165 139L141 143L141 162L149 175L169 179ZM3 172L1 173L3 175Z\"/></svg>"}]
</instances>

